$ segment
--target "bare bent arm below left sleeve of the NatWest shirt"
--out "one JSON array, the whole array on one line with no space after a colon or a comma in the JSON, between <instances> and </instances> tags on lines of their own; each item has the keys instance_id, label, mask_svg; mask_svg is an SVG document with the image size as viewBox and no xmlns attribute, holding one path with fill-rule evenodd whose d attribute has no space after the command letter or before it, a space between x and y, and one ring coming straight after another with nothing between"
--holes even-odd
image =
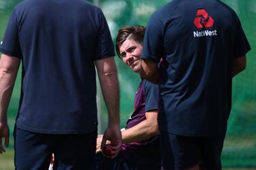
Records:
<instances>
[{"instance_id":1,"label":"bare bent arm below left sleeve of the NatWest shirt","mask_svg":"<svg viewBox=\"0 0 256 170\"><path fill-rule=\"evenodd\" d=\"M150 60L141 60L141 72L139 73L143 79L158 84L160 79L158 64Z\"/></svg>"}]
</instances>

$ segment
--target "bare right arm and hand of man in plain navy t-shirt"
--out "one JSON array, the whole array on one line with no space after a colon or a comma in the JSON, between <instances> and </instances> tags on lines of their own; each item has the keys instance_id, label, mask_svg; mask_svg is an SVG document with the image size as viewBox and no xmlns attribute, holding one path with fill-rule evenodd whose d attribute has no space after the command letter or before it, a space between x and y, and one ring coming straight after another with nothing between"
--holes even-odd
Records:
<instances>
[{"instance_id":1,"label":"bare right arm and hand of man in plain navy t-shirt","mask_svg":"<svg viewBox=\"0 0 256 170\"><path fill-rule=\"evenodd\" d=\"M107 140L111 142L113 154L118 154L121 148L122 135L120 131L120 91L117 79L117 68L113 57L96 61L98 79L103 92L103 98L109 113L109 123L103 135L101 148Z\"/></svg>"}]
</instances>

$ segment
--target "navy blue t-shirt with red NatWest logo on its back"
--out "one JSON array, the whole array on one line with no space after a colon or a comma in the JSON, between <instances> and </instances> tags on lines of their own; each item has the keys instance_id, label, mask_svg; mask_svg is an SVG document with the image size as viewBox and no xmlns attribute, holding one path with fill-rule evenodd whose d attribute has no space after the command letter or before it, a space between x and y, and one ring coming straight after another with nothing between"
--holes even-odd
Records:
<instances>
[{"instance_id":1,"label":"navy blue t-shirt with red NatWest logo on its back","mask_svg":"<svg viewBox=\"0 0 256 170\"><path fill-rule=\"evenodd\" d=\"M151 16L142 58L163 59L160 130L224 134L232 97L232 61L250 45L235 12L217 0L173 0Z\"/></svg>"}]
</instances>

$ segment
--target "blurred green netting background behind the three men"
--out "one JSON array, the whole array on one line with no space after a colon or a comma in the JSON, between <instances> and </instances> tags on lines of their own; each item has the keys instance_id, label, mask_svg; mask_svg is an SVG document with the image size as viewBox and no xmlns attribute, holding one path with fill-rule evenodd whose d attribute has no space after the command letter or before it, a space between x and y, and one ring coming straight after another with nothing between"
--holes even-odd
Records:
<instances>
[{"instance_id":1,"label":"blurred green netting background behind the three men","mask_svg":"<svg viewBox=\"0 0 256 170\"><path fill-rule=\"evenodd\" d=\"M0 0L0 40L3 38L7 20L19 0ZM124 25L146 26L149 16L164 5L166 0L94 0L92 3L103 9L109 23L113 40L117 30ZM256 0L223 0L238 14L252 50L247 54L247 67L233 81L232 113L222 154L223 167L229 169L256 169ZM134 92L140 78L122 61L116 58L121 89L121 124L132 112ZM8 109L8 123L12 133L20 97L20 72L16 80L12 100ZM99 133L107 123L107 113L98 89ZM0 169L14 169L13 139L7 152L0 155Z\"/></svg>"}]
</instances>

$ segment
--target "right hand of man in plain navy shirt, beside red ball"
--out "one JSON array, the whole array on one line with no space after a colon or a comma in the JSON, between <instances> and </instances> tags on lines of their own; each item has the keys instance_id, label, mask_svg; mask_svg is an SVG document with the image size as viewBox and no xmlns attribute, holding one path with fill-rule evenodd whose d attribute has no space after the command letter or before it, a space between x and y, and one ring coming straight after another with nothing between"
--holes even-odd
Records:
<instances>
[{"instance_id":1,"label":"right hand of man in plain navy shirt, beside red ball","mask_svg":"<svg viewBox=\"0 0 256 170\"><path fill-rule=\"evenodd\" d=\"M115 156L117 156L118 152L120 151L122 144L122 133L119 126L108 125L103 135L100 149L104 148L105 144L107 144L107 140L109 140L112 146L111 153L113 154L113 156L111 156L111 158L115 158Z\"/></svg>"}]
</instances>

